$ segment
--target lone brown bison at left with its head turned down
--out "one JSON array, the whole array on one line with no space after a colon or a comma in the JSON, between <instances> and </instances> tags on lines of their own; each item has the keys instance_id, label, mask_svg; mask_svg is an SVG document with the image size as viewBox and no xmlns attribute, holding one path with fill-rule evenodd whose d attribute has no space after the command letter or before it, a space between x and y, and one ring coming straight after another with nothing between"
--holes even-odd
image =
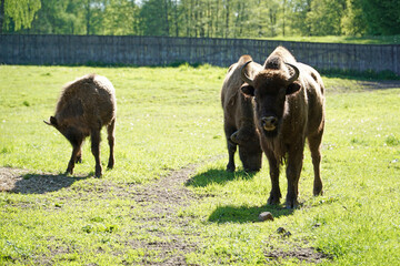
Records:
<instances>
[{"instance_id":1,"label":"lone brown bison at left with its head turned down","mask_svg":"<svg viewBox=\"0 0 400 266\"><path fill-rule=\"evenodd\" d=\"M91 136L91 152L96 158L96 176L101 176L100 130L107 126L110 157L108 167L114 165L113 145L116 126L116 92L111 82L101 75L84 75L64 86L57 103L56 115L48 125L54 126L72 145L67 173L72 174L76 162L81 162L81 146Z\"/></svg>"}]
</instances>

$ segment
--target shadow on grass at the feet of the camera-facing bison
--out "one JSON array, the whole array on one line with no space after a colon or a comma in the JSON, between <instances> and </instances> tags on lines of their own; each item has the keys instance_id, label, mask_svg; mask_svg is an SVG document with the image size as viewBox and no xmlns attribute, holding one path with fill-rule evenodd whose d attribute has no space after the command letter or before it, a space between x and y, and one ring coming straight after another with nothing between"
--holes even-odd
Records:
<instances>
[{"instance_id":1,"label":"shadow on grass at the feet of the camera-facing bison","mask_svg":"<svg viewBox=\"0 0 400 266\"><path fill-rule=\"evenodd\" d=\"M249 206L221 206L218 207L208 218L209 222L224 223L256 223L259 222L259 215L262 212L270 212L274 218L292 215L294 209L288 209L281 206L264 205L261 207Z\"/></svg>"}]
</instances>

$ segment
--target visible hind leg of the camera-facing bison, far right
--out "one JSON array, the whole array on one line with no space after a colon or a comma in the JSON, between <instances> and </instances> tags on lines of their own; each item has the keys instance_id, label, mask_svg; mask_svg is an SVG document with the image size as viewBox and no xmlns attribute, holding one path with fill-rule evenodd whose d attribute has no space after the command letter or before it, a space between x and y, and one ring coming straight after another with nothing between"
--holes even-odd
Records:
<instances>
[{"instance_id":1,"label":"visible hind leg of the camera-facing bison, far right","mask_svg":"<svg viewBox=\"0 0 400 266\"><path fill-rule=\"evenodd\" d=\"M322 132L316 136L311 136L309 140L309 146L311 151L312 165L314 171L314 182L313 182L313 195L322 195L322 180L321 180L321 140Z\"/></svg>"}]
</instances>

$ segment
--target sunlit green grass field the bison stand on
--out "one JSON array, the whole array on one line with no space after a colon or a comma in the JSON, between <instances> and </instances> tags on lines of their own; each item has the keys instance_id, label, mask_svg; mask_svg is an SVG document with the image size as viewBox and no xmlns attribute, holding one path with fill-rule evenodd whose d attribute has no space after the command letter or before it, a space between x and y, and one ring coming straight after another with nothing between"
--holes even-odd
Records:
<instances>
[{"instance_id":1,"label":"sunlit green grass field the bison stand on","mask_svg":"<svg viewBox=\"0 0 400 266\"><path fill-rule=\"evenodd\" d=\"M306 150L289 211L267 205L267 160L224 171L226 71L0 65L0 265L398 265L400 83L323 76L324 195ZM86 143L64 176L70 144L42 121L90 72L117 91L116 167L94 178ZM258 222L266 211L273 222Z\"/></svg>"}]
</instances>

